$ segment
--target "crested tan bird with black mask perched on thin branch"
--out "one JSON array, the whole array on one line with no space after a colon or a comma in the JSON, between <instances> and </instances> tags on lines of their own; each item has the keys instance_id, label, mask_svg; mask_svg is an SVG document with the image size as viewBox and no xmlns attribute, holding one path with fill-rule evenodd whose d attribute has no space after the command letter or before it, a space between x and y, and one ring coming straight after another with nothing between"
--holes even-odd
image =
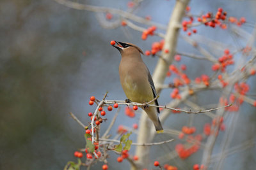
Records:
<instances>
[{"instance_id":1,"label":"crested tan bird with black mask perched on thin branch","mask_svg":"<svg viewBox=\"0 0 256 170\"><path fill-rule=\"evenodd\" d=\"M131 43L115 41L113 46L121 53L122 59L119 65L119 76L122 88L127 98L136 103L147 103L156 96L156 89L152 76L147 66L141 59L142 50ZM157 100L154 103L158 106ZM150 103L150 104L153 104ZM143 108L152 120L157 132L163 132L163 127L157 116L159 108Z\"/></svg>"}]
</instances>

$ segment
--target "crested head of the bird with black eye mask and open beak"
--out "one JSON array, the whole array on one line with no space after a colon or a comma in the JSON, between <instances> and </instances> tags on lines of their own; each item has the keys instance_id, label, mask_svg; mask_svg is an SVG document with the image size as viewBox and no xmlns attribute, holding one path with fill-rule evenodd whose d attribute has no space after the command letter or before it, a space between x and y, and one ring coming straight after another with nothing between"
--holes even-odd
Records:
<instances>
[{"instance_id":1,"label":"crested head of the bird with black eye mask and open beak","mask_svg":"<svg viewBox=\"0 0 256 170\"><path fill-rule=\"evenodd\" d=\"M121 53L121 55L134 53L134 52L135 53L139 52L144 54L143 51L138 46L133 45L132 43L122 43L120 41L115 41L115 44L112 46L114 46Z\"/></svg>"}]
</instances>

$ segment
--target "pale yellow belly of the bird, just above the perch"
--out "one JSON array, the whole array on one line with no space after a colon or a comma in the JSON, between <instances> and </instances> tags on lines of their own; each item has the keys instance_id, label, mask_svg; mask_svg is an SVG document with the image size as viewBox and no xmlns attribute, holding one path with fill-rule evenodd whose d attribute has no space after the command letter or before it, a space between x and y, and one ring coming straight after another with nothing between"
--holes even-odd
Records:
<instances>
[{"instance_id":1,"label":"pale yellow belly of the bird, just above the perch","mask_svg":"<svg viewBox=\"0 0 256 170\"><path fill-rule=\"evenodd\" d=\"M145 103L151 101L154 98L152 89L150 87L144 87L137 81L132 80L129 76L125 76L125 81L122 84L122 87L124 89L125 95L131 101L137 103Z\"/></svg>"}]
</instances>

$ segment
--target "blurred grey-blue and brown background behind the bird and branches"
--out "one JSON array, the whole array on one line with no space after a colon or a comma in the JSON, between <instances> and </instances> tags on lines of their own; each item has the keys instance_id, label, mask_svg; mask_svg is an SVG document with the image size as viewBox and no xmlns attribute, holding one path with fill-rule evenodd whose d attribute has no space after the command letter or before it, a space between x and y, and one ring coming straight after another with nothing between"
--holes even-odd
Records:
<instances>
[{"instance_id":1,"label":"blurred grey-blue and brown background behind the bird and branches","mask_svg":"<svg viewBox=\"0 0 256 170\"><path fill-rule=\"evenodd\" d=\"M78 2L121 10L127 10L128 3L113 0ZM135 13L141 17L150 15L153 21L167 24L174 3L145 1ZM189 5L192 13L214 12L222 7L228 16L246 17L248 22L256 22L255 1L196 0ZM253 30L252 26L243 28L249 33ZM207 35L207 38L227 43L227 46L239 47L246 42L237 43L232 33L221 29L200 26L198 32L201 36ZM88 112L95 110L95 106L88 105L90 96L102 99L108 91L108 99L126 99L119 83L120 53L109 41L129 41L145 51L150 49L152 42L160 40L150 37L143 41L140 37L141 32L128 27L103 29L93 13L67 8L56 1L0 1L0 169L63 169L68 160L76 160L73 153L84 147L84 130L68 112L72 111L86 124ZM177 48L182 52L196 53L182 39L179 39ZM143 59L152 73L157 59L145 56ZM183 57L182 64L187 64L191 79L203 74L202 70L212 74L208 69L211 63ZM252 94L255 94L255 83L255 78L250 78ZM161 93L160 104L170 101L170 92L164 90ZM198 104L216 103L218 97L216 92L204 93ZM106 117L111 120L114 113L108 112ZM123 107L112 133L116 133L120 124L131 127L138 123L139 114L133 119L125 117ZM236 125L236 140L255 139L255 108L245 103L239 114L243 115L239 116L241 124ZM173 115L164 127L180 129L188 122L188 117L185 113ZM197 124L202 128L202 122ZM102 129L106 125L102 124ZM135 136L132 139L136 140ZM170 149L173 148L171 146ZM253 146L228 157L225 169L255 167L255 152ZM191 158L189 164L193 165L195 160ZM121 166L129 169L127 162L116 163L115 154L109 162L113 162L109 169L120 169ZM98 164L92 169L101 166Z\"/></svg>"}]
</instances>

